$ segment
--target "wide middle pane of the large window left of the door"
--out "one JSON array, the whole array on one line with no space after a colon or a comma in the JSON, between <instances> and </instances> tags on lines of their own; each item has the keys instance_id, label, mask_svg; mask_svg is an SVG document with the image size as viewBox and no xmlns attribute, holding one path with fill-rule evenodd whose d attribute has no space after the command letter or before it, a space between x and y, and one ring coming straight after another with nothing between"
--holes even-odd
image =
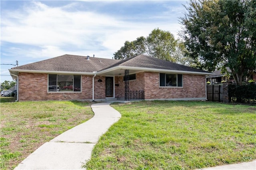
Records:
<instances>
[{"instance_id":1,"label":"wide middle pane of the large window left of the door","mask_svg":"<svg viewBox=\"0 0 256 170\"><path fill-rule=\"evenodd\" d=\"M57 79L61 91L73 91L73 75L58 75Z\"/></svg>"}]
</instances>

